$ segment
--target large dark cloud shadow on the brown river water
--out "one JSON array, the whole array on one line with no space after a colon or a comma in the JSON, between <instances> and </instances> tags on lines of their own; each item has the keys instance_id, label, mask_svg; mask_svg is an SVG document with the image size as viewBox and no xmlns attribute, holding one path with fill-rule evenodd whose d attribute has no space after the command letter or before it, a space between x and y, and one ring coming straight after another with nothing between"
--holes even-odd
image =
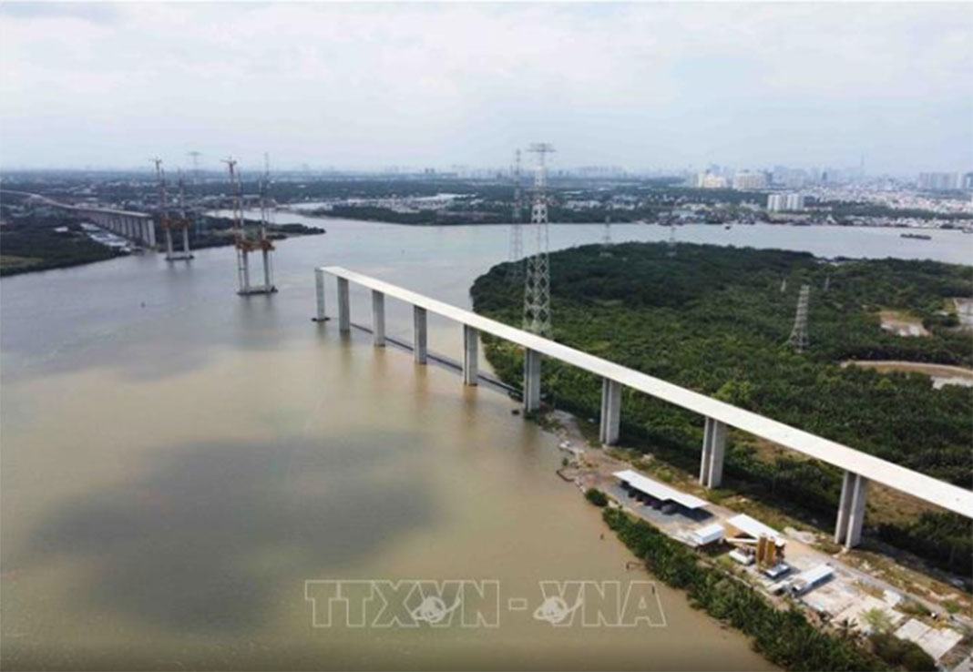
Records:
<instances>
[{"instance_id":1,"label":"large dark cloud shadow on the brown river water","mask_svg":"<svg viewBox=\"0 0 973 672\"><path fill-rule=\"evenodd\" d=\"M144 477L65 504L16 564L92 561L74 595L84 608L240 633L270 618L281 584L347 571L432 522L421 472L387 476L411 469L414 437L284 443L180 447Z\"/></svg>"}]
</instances>

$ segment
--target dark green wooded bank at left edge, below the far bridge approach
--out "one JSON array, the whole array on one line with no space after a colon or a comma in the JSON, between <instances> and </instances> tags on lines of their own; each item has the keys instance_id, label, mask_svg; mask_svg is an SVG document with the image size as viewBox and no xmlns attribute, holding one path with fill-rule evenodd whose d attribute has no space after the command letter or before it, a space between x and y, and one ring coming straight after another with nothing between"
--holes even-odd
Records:
<instances>
[{"instance_id":1,"label":"dark green wooded bank at left edge, below the far bridge approach","mask_svg":"<svg viewBox=\"0 0 973 672\"><path fill-rule=\"evenodd\" d=\"M62 227L68 230L56 230ZM89 264L116 254L91 240L70 218L5 218L0 228L0 275Z\"/></svg>"}]
</instances>

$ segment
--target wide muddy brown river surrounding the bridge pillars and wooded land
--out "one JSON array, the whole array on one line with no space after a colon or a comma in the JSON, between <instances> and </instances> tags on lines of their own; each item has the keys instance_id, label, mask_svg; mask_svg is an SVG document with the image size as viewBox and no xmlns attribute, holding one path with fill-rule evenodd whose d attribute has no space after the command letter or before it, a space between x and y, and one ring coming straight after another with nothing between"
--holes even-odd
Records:
<instances>
[{"instance_id":1,"label":"wide muddy brown river surrounding the bridge pillars and wooded land","mask_svg":"<svg viewBox=\"0 0 973 672\"><path fill-rule=\"evenodd\" d=\"M517 405L309 321L315 265L468 306L506 227L310 220L278 245L279 294L234 294L232 249L28 274L0 285L2 664L7 668L768 669L739 633L658 586L666 626L554 627L538 582L650 579L554 471ZM554 226L553 249L601 239ZM615 240L667 238L644 225ZM970 238L685 227L683 240L969 263ZM529 235L525 249L529 251ZM334 285L329 281L329 309ZM368 322L367 295L352 314ZM390 301L388 332L411 338ZM557 316L555 316L557 319ZM455 325L430 347L458 357ZM313 627L308 580L493 580L496 628ZM506 609L523 597L525 612Z\"/></svg>"}]
</instances>

